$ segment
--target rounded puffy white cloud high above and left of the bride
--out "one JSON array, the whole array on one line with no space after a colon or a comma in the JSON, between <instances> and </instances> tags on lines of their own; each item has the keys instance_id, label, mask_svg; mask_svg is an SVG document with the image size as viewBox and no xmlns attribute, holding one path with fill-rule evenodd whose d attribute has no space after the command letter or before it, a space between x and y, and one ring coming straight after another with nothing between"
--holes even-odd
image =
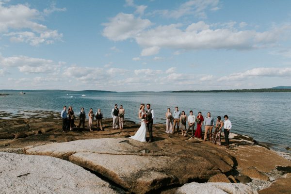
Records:
<instances>
[{"instance_id":1,"label":"rounded puffy white cloud high above and left of the bride","mask_svg":"<svg viewBox=\"0 0 291 194\"><path fill-rule=\"evenodd\" d=\"M110 19L109 23L104 23L103 36L114 40L126 40L138 35L152 25L148 19L134 18L132 14L119 13Z\"/></svg>"}]
</instances>

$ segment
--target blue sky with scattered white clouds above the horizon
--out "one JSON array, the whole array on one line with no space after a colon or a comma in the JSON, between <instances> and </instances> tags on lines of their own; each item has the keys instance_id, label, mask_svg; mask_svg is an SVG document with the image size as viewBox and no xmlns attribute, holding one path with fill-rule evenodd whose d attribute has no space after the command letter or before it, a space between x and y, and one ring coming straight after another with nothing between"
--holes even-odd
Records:
<instances>
[{"instance_id":1,"label":"blue sky with scattered white clouds above the horizon","mask_svg":"<svg viewBox=\"0 0 291 194\"><path fill-rule=\"evenodd\" d=\"M0 89L291 85L291 0L0 0Z\"/></svg>"}]
</instances>

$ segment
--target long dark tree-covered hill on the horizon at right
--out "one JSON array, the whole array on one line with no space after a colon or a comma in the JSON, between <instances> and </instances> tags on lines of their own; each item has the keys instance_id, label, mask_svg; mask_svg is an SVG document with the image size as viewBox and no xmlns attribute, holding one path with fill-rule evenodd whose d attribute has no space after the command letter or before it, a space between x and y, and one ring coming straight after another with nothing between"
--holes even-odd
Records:
<instances>
[{"instance_id":1,"label":"long dark tree-covered hill on the horizon at right","mask_svg":"<svg viewBox=\"0 0 291 194\"><path fill-rule=\"evenodd\" d=\"M261 88L261 89L242 89L242 90L181 90L173 92L187 92L187 93L210 93L210 92L291 92L290 89L274 89L274 88Z\"/></svg>"}]
</instances>

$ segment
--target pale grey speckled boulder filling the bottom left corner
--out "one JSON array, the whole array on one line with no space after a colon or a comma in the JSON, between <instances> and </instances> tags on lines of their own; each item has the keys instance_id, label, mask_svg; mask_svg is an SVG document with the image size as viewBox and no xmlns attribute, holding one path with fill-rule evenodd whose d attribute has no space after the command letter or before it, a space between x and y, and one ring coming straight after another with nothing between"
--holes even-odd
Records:
<instances>
[{"instance_id":1,"label":"pale grey speckled boulder filling the bottom left corner","mask_svg":"<svg viewBox=\"0 0 291 194\"><path fill-rule=\"evenodd\" d=\"M82 167L49 156L0 152L2 194L116 194L111 185Z\"/></svg>"}]
</instances>

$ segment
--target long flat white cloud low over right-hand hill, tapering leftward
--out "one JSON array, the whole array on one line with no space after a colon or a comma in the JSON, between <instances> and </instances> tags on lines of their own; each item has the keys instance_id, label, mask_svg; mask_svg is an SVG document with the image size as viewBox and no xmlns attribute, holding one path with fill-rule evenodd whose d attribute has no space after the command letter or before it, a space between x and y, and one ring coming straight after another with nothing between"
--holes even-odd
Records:
<instances>
[{"instance_id":1,"label":"long flat white cloud low over right-hand hill, tapering leftward","mask_svg":"<svg viewBox=\"0 0 291 194\"><path fill-rule=\"evenodd\" d=\"M291 68L260 67L224 76L218 81L235 81L255 77L291 77Z\"/></svg>"}]
</instances>

